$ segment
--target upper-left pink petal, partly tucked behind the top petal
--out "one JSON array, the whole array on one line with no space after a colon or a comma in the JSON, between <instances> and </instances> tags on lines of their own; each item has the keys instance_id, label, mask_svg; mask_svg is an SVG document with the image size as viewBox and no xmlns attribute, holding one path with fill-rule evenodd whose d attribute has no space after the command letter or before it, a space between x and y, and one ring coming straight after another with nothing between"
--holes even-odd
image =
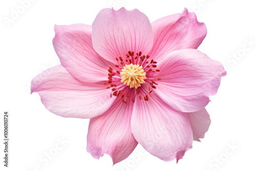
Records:
<instances>
[{"instance_id":1,"label":"upper-left pink petal, partly tucked behind the top petal","mask_svg":"<svg viewBox=\"0 0 256 171\"><path fill-rule=\"evenodd\" d=\"M54 49L61 65L75 78L86 82L107 80L113 64L99 56L92 46L92 26L55 26Z\"/></svg>"}]
</instances>

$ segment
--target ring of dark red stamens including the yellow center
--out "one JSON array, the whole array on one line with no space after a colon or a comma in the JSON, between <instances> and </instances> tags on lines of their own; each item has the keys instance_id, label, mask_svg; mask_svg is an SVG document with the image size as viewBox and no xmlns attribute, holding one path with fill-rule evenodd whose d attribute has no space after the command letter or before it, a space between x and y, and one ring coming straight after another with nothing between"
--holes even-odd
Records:
<instances>
[{"instance_id":1,"label":"ring of dark red stamens including the yellow center","mask_svg":"<svg viewBox=\"0 0 256 171\"><path fill-rule=\"evenodd\" d=\"M135 55L136 54L136 55ZM154 77L156 72L160 72L157 68L157 61L150 59L150 55L142 55L142 52L134 53L129 51L124 56L116 58L117 65L114 67L121 71L114 70L109 67L108 81L104 85L108 86L106 89L111 89L110 97L121 97L123 103L127 100L135 102L137 99L148 101L152 89L158 85L156 80L160 78ZM147 90L148 89L148 90Z\"/></svg>"}]
</instances>

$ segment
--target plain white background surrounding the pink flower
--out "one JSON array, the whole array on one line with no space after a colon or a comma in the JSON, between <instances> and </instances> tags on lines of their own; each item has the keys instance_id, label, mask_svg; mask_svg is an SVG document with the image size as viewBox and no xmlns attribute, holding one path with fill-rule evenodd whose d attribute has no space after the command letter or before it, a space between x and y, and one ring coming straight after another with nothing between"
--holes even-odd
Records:
<instances>
[{"instance_id":1,"label":"plain white background surrounding the pink flower","mask_svg":"<svg viewBox=\"0 0 256 171\"><path fill-rule=\"evenodd\" d=\"M1 143L1 170L255 170L255 1L113 2L116 3L112 4L114 9L121 6L139 9L151 22L181 13L186 7L206 24L208 34L199 50L221 61L228 74L206 108L212 123L205 138L201 143L194 142L193 149L178 164L164 162L145 152L140 145L129 158L114 166L108 155L100 160L92 158L86 151L89 120L50 113L38 94L30 95L29 86L34 76L59 63L52 46L54 25L91 25L102 8L111 7L111 1L35 0L8 27L4 17L11 17L12 9L17 11L21 4L18 0L1 0L0 112L10 113L10 167L3 166ZM250 39L254 42L251 47L247 42ZM62 138L68 143L57 150L55 146ZM236 147L231 149L232 145ZM55 156L47 162L45 154L49 152Z\"/></svg>"}]
</instances>

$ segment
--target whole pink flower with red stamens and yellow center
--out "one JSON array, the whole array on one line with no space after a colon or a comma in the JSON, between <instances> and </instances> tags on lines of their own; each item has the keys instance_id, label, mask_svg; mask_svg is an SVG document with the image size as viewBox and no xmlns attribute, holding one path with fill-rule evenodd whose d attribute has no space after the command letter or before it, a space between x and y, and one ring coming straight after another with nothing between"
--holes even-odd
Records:
<instances>
[{"instance_id":1,"label":"whole pink flower with red stamens and yellow center","mask_svg":"<svg viewBox=\"0 0 256 171\"><path fill-rule=\"evenodd\" d=\"M210 125L205 106L226 72L197 50L206 27L186 9L150 23L145 14L102 9L92 26L55 26L61 65L32 80L50 112L91 118L87 151L113 163L140 143L164 160L181 159Z\"/></svg>"}]
</instances>

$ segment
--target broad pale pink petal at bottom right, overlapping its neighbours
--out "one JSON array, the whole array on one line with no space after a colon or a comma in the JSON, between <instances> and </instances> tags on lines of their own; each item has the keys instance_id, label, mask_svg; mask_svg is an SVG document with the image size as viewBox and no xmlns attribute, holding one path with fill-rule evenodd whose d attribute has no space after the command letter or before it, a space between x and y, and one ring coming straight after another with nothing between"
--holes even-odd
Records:
<instances>
[{"instance_id":1,"label":"broad pale pink petal at bottom right, overlapping its neighbours","mask_svg":"<svg viewBox=\"0 0 256 171\"><path fill-rule=\"evenodd\" d=\"M132 133L152 155L164 160L181 159L192 148L193 132L186 113L170 108L155 93L134 104Z\"/></svg>"}]
</instances>

